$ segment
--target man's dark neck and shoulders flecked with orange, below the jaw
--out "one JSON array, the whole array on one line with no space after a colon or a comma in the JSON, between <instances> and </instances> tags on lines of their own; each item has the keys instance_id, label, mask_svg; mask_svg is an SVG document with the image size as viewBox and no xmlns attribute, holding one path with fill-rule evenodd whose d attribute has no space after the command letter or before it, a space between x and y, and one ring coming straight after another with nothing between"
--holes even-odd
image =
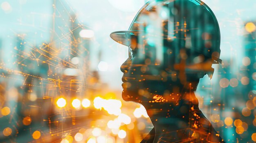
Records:
<instances>
[{"instance_id":1,"label":"man's dark neck and shoulders flecked with orange, below the jaw","mask_svg":"<svg viewBox=\"0 0 256 143\"><path fill-rule=\"evenodd\" d=\"M155 92L153 98L144 102L148 116L153 123L153 131L146 138L151 143L202 141L223 143L211 123L198 108L195 97L197 83L186 84L182 90L171 88L161 94ZM148 143L149 143L148 142Z\"/></svg>"}]
</instances>

